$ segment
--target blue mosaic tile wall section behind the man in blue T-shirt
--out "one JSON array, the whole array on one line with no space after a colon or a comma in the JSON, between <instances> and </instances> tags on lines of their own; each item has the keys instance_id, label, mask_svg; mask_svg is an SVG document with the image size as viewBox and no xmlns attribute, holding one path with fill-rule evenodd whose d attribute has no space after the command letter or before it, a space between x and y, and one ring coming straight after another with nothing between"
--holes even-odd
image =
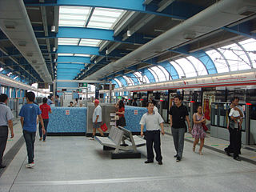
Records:
<instances>
[{"instance_id":1,"label":"blue mosaic tile wall section behind the man in blue T-shirt","mask_svg":"<svg viewBox=\"0 0 256 192\"><path fill-rule=\"evenodd\" d=\"M86 133L86 107L51 107L48 133ZM66 115L66 110L70 114Z\"/></svg>"}]
</instances>

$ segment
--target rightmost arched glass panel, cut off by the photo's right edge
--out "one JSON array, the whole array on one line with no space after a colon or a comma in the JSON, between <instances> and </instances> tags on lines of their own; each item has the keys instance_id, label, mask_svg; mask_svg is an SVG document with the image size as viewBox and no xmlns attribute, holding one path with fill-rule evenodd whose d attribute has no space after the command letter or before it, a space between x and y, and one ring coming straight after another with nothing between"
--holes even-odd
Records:
<instances>
[{"instance_id":1,"label":"rightmost arched glass panel, cut off by the photo's right edge","mask_svg":"<svg viewBox=\"0 0 256 192\"><path fill-rule=\"evenodd\" d=\"M247 51L249 54L250 60L253 64L253 67L256 68L256 54L255 54L255 47L256 47L256 40L253 38L247 39L246 41L239 42L240 45Z\"/></svg>"}]
</instances>

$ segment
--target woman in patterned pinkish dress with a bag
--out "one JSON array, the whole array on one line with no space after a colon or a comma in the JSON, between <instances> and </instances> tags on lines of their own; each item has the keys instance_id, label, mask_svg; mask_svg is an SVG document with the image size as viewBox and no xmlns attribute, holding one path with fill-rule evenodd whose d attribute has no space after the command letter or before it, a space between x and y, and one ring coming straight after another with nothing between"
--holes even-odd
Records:
<instances>
[{"instance_id":1,"label":"woman in patterned pinkish dress with a bag","mask_svg":"<svg viewBox=\"0 0 256 192\"><path fill-rule=\"evenodd\" d=\"M203 126L206 123L204 114L202 114L202 106L198 106L198 112L193 115L194 126L191 134L194 138L193 151L195 151L195 146L198 144L200 139L200 148L198 153L202 155L202 146L204 145L206 138L206 131Z\"/></svg>"}]
</instances>

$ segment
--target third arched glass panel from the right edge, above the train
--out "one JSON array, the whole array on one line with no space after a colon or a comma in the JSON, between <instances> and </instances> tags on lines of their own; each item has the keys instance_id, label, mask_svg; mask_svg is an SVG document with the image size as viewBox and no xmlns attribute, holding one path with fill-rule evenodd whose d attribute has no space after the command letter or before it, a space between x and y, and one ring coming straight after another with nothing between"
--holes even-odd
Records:
<instances>
[{"instance_id":1,"label":"third arched glass panel from the right edge, above the train","mask_svg":"<svg viewBox=\"0 0 256 192\"><path fill-rule=\"evenodd\" d=\"M225 58L223 58L222 55L218 53L218 51L208 50L206 51L206 54L208 54L211 60L213 60L218 74L229 72L229 67L226 64Z\"/></svg>"}]
</instances>

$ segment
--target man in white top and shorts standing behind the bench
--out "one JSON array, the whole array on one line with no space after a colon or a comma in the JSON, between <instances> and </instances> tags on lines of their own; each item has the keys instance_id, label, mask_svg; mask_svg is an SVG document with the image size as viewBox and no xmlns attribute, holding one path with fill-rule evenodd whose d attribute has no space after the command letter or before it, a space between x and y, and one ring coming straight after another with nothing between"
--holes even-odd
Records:
<instances>
[{"instance_id":1,"label":"man in white top and shorts standing behind the bench","mask_svg":"<svg viewBox=\"0 0 256 192\"><path fill-rule=\"evenodd\" d=\"M102 125L102 107L99 106L98 99L95 99L94 106L95 106L95 108L94 108L94 114L93 114L93 135L90 138L90 140L94 140L94 137L95 137L95 134L96 134L96 129L102 135L102 137L104 136L103 131L101 129L101 125Z\"/></svg>"}]
</instances>

